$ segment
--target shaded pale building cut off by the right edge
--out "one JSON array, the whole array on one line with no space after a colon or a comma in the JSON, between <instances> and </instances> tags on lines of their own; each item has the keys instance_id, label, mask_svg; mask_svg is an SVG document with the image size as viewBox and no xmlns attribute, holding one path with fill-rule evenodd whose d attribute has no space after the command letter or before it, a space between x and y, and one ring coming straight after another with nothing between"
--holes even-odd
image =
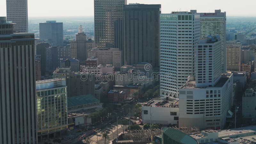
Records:
<instances>
[{"instance_id":1,"label":"shaded pale building cut off by the right edge","mask_svg":"<svg viewBox=\"0 0 256 144\"><path fill-rule=\"evenodd\" d=\"M256 118L256 91L247 89L242 98L243 118Z\"/></svg>"}]
</instances>

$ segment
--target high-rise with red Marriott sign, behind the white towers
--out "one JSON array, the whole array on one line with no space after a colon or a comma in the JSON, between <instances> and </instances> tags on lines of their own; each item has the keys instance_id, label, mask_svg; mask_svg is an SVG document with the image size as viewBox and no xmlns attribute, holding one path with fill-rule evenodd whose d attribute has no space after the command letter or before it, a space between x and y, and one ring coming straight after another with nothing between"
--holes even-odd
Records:
<instances>
[{"instance_id":1,"label":"high-rise with red Marriott sign, behind the white towers","mask_svg":"<svg viewBox=\"0 0 256 144\"><path fill-rule=\"evenodd\" d=\"M193 10L192 10L193 11ZM195 12L195 11L194 11ZM226 12L200 13L201 37L220 36L221 71L226 72Z\"/></svg>"}]
</instances>

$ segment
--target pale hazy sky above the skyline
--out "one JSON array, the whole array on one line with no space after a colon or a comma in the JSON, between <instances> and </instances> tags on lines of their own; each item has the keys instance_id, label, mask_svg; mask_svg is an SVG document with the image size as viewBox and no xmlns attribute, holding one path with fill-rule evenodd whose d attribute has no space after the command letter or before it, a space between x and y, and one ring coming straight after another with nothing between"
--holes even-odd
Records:
<instances>
[{"instance_id":1,"label":"pale hazy sky above the skyline","mask_svg":"<svg viewBox=\"0 0 256 144\"><path fill-rule=\"evenodd\" d=\"M256 16L255 0L127 0L129 3L161 4L162 13L221 9L227 16ZM5 0L0 0L0 7L0 16L6 16ZM28 17L93 16L93 13L93 0L28 0Z\"/></svg>"}]
</instances>

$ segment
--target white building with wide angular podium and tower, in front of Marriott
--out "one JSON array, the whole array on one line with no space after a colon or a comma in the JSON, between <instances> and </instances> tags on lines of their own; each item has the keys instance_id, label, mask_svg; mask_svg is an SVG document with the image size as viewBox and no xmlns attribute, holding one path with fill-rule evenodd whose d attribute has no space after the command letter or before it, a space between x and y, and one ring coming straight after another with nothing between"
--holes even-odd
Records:
<instances>
[{"instance_id":1,"label":"white building with wide angular podium and tower, in front of Marriott","mask_svg":"<svg viewBox=\"0 0 256 144\"><path fill-rule=\"evenodd\" d=\"M221 74L220 49L219 36L196 44L195 77L189 76L180 88L179 125L219 130L232 117L233 74Z\"/></svg>"}]
</instances>

